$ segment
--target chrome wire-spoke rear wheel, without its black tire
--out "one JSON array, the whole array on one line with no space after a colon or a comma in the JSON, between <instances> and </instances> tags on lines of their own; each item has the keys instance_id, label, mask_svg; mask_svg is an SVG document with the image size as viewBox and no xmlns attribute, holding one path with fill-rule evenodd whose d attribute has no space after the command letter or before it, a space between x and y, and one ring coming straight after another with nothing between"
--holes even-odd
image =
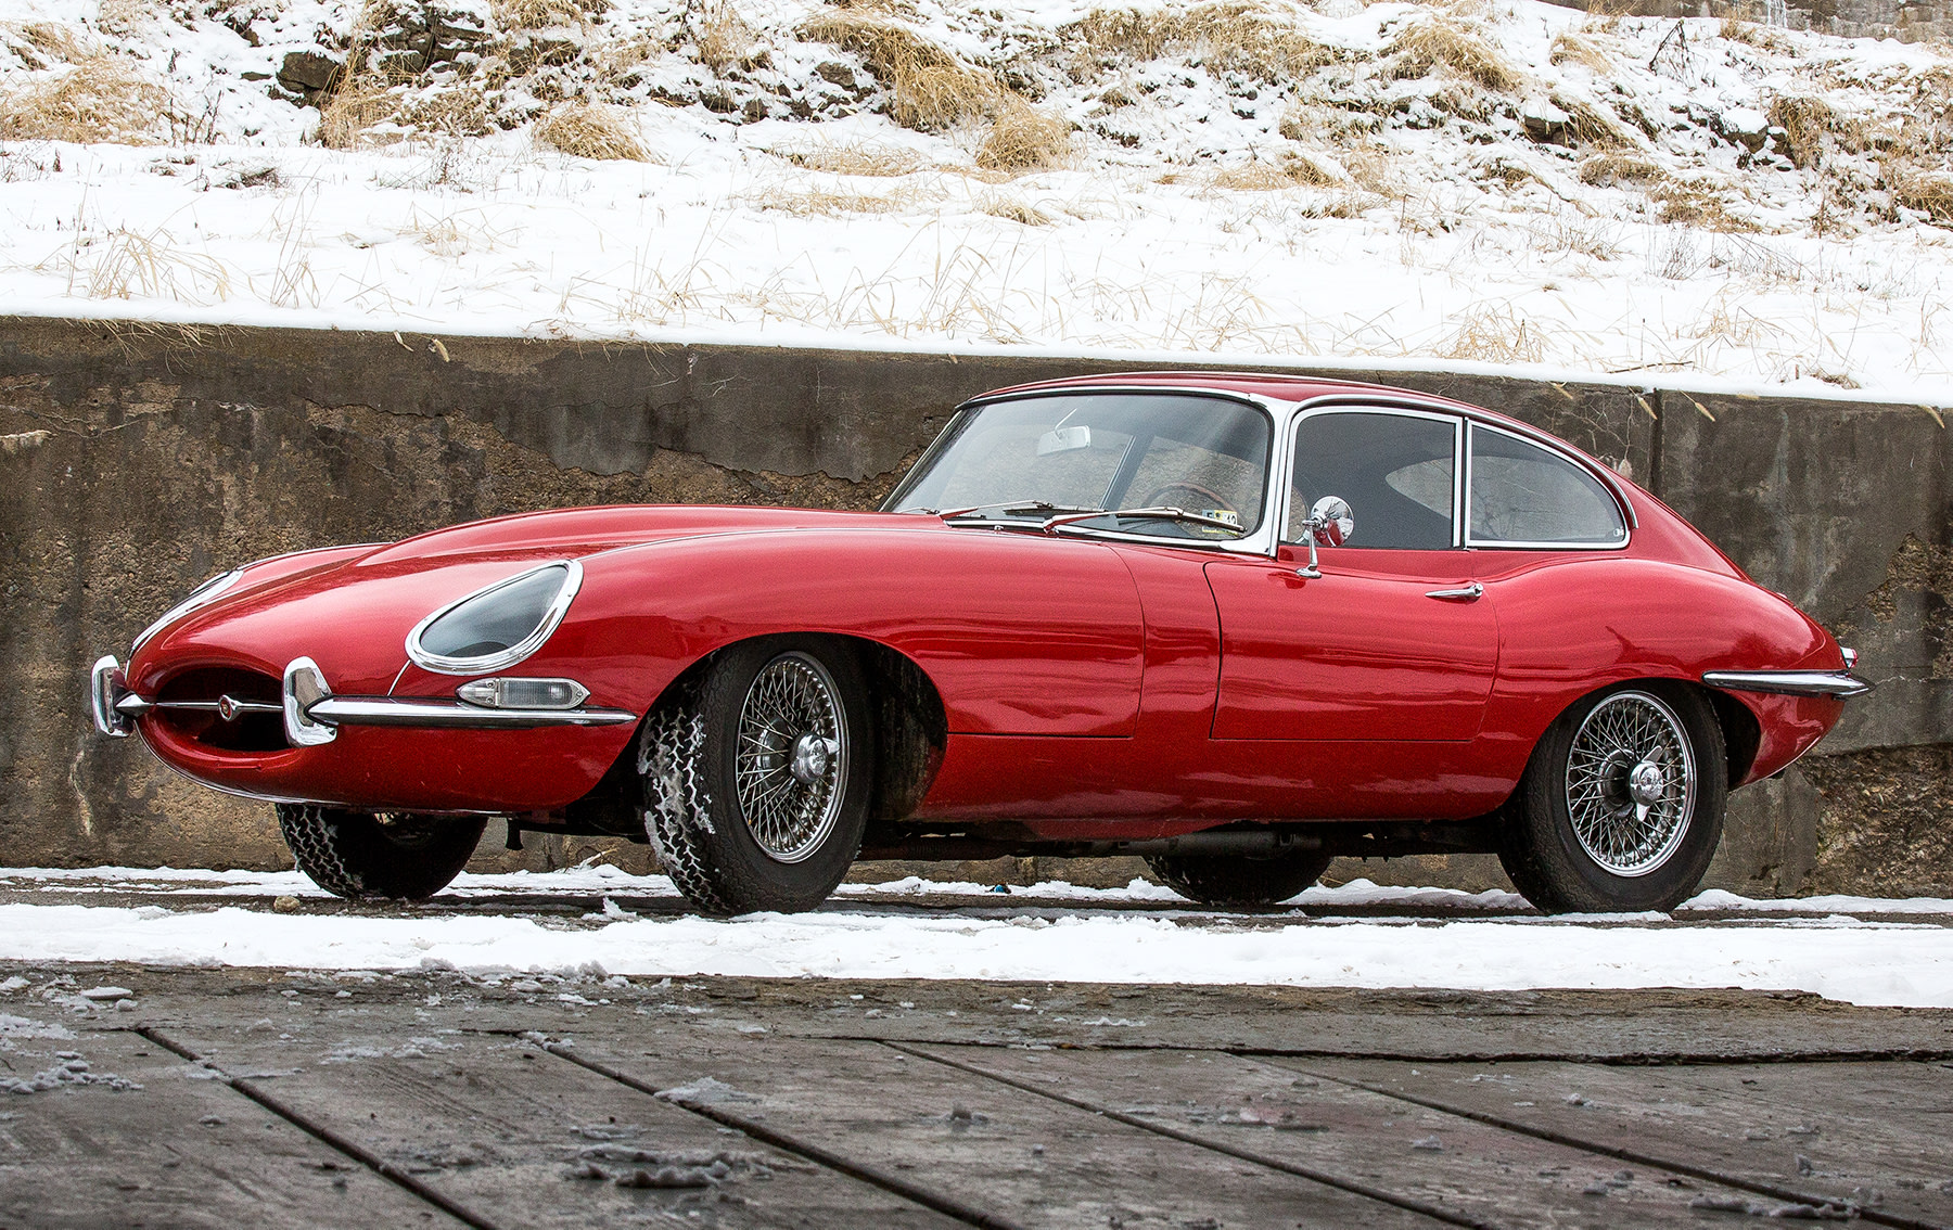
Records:
<instances>
[{"instance_id":1,"label":"chrome wire-spoke rear wheel, without its black tire","mask_svg":"<svg viewBox=\"0 0 1953 1230\"><path fill-rule=\"evenodd\" d=\"M1588 713L1566 752L1566 816L1605 871L1642 877L1674 857L1695 814L1695 752L1676 711L1621 691Z\"/></svg>"}]
</instances>

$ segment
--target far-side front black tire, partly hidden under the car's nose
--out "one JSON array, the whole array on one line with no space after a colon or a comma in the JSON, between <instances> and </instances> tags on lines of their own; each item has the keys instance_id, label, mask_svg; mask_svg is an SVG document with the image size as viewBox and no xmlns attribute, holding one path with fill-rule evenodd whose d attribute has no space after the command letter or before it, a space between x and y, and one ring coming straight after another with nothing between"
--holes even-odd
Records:
<instances>
[{"instance_id":1,"label":"far-side front black tire, partly hidden under the car's nose","mask_svg":"<svg viewBox=\"0 0 1953 1230\"><path fill-rule=\"evenodd\" d=\"M277 804L299 871L334 896L418 902L453 882L482 840L484 818L389 816L330 806Z\"/></svg>"}]
</instances>

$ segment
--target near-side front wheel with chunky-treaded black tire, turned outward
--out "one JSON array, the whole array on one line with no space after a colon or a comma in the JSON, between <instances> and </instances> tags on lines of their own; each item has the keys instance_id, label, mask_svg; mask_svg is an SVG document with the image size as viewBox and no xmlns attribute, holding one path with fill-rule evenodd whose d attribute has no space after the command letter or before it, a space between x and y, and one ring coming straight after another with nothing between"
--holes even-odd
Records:
<instances>
[{"instance_id":1,"label":"near-side front wheel with chunky-treaded black tire, turned outward","mask_svg":"<svg viewBox=\"0 0 1953 1230\"><path fill-rule=\"evenodd\" d=\"M781 691L762 691L762 676ZM758 718L748 703L764 709L768 695L785 697L789 709L807 701L795 713L809 720L783 734L773 734L777 724L758 736L748 728L742 797L740 720ZM809 738L838 744L816 758L818 773L795 756ZM644 832L664 873L707 914L812 910L861 849L873 767L867 683L853 650L820 636L736 644L644 720L637 756Z\"/></svg>"}]
</instances>

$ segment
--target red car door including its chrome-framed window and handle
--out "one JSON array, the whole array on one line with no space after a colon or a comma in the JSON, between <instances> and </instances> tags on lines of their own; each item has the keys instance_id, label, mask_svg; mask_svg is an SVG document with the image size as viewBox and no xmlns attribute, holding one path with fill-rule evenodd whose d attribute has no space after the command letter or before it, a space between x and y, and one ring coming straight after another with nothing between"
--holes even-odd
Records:
<instances>
[{"instance_id":1,"label":"red car door including its chrome-framed window and handle","mask_svg":"<svg viewBox=\"0 0 1953 1230\"><path fill-rule=\"evenodd\" d=\"M1498 621L1461 547L1461 424L1332 408L1297 424L1277 558L1207 564L1221 615L1217 740L1461 742L1478 734ZM1307 517L1350 502L1355 531L1309 562Z\"/></svg>"}]
</instances>

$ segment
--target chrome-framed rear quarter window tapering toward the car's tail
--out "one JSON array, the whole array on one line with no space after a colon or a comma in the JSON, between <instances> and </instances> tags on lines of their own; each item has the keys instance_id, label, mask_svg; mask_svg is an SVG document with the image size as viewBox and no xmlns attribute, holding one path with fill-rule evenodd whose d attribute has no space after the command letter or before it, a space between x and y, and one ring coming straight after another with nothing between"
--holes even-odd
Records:
<instances>
[{"instance_id":1,"label":"chrome-framed rear quarter window tapering toward the car's tail","mask_svg":"<svg viewBox=\"0 0 1953 1230\"><path fill-rule=\"evenodd\" d=\"M1471 543L1615 547L1621 508L1600 478L1496 428L1471 428Z\"/></svg>"}]
</instances>

